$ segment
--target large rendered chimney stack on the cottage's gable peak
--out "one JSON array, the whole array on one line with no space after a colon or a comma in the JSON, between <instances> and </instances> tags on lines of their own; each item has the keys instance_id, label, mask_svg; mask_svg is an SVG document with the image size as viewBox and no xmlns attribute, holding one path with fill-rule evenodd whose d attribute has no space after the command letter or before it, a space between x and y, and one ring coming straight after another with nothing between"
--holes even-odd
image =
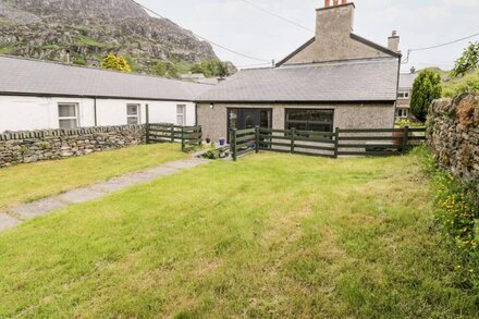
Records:
<instances>
[{"instance_id":1,"label":"large rendered chimney stack on the cottage's gable peak","mask_svg":"<svg viewBox=\"0 0 479 319\"><path fill-rule=\"evenodd\" d=\"M348 37L353 30L354 9L354 3L347 0L324 0L324 8L316 10L316 37Z\"/></svg>"}]
</instances>

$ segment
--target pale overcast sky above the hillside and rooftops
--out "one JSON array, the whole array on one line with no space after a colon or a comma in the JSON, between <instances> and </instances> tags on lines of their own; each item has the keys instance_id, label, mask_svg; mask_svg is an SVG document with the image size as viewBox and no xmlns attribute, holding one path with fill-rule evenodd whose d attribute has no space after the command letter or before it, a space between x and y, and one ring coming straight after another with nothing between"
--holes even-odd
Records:
<instances>
[{"instance_id":1,"label":"pale overcast sky above the hillside and rooftops","mask_svg":"<svg viewBox=\"0 0 479 319\"><path fill-rule=\"evenodd\" d=\"M266 60L281 60L314 34L270 16L242 0L137 0L179 25L236 51ZM257 5L315 28L315 9L323 0L249 0ZM422 48L479 33L479 0L356 0L354 32L386 45L393 29L401 49ZM476 37L471 40L479 40ZM409 64L418 69L451 69L468 41L414 52ZM222 60L238 66L258 62L216 48Z\"/></svg>"}]
</instances>

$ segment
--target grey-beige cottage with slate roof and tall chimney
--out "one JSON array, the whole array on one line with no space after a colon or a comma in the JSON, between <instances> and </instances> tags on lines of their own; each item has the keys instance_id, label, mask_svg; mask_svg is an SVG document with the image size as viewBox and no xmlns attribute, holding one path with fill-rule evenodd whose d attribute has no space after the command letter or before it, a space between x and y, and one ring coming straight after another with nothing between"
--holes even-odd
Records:
<instances>
[{"instance_id":1,"label":"grey-beige cottage with slate roof and tall chimney","mask_svg":"<svg viewBox=\"0 0 479 319\"><path fill-rule=\"evenodd\" d=\"M274 68L238 72L199 96L197 122L218 139L256 125L332 132L393 127L401 64L394 32L382 47L353 33L355 4L324 1L316 36Z\"/></svg>"}]
</instances>

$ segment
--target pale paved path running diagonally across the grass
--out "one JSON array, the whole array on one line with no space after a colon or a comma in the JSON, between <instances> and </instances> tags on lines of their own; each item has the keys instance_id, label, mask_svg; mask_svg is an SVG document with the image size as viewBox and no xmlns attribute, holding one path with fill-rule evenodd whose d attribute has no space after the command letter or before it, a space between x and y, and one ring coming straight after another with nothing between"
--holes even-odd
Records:
<instances>
[{"instance_id":1,"label":"pale paved path running diagonally across the grass","mask_svg":"<svg viewBox=\"0 0 479 319\"><path fill-rule=\"evenodd\" d=\"M60 195L12 207L8 211L0 211L0 232L16 226L26 220L50 213L57 209L101 198L113 192L118 192L133 185L146 184L156 179L168 176L182 170L192 169L207 162L210 161L200 158L191 158L169 162L156 168L128 173L87 187L76 188Z\"/></svg>"}]
</instances>

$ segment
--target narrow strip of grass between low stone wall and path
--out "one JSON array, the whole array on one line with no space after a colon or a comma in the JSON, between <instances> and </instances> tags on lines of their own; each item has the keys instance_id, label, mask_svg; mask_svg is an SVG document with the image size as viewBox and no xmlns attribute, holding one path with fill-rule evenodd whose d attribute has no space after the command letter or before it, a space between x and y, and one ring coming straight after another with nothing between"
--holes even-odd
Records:
<instances>
[{"instance_id":1,"label":"narrow strip of grass between low stone wall and path","mask_svg":"<svg viewBox=\"0 0 479 319\"><path fill-rule=\"evenodd\" d=\"M185 158L179 145L143 145L0 170L0 210Z\"/></svg>"}]
</instances>

